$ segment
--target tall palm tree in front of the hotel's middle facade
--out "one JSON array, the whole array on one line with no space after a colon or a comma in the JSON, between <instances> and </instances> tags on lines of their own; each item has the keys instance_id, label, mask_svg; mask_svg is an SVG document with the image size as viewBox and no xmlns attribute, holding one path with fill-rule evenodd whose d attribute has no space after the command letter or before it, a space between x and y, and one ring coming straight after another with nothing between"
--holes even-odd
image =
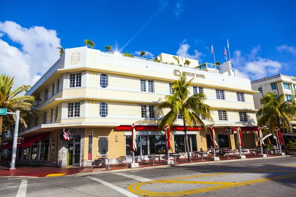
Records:
<instances>
[{"instance_id":1,"label":"tall palm tree in front of the hotel's middle facade","mask_svg":"<svg viewBox=\"0 0 296 197\"><path fill-rule=\"evenodd\" d=\"M189 127L199 125L206 131L207 128L199 115L213 122L213 118L210 115L212 109L209 105L204 103L204 101L207 99L206 95L197 93L190 96L189 89L191 87L192 80L193 79L187 82L186 75L181 75L178 80L174 81L173 83L173 95L165 96L165 101L163 101L158 106L158 110L163 110L165 108L171 109L165 116L163 116L159 123L158 130L163 130L166 125L172 126L177 121L178 114L181 113L185 131L185 145L189 162L191 162L191 158L189 154L186 125Z\"/></svg>"}]
</instances>

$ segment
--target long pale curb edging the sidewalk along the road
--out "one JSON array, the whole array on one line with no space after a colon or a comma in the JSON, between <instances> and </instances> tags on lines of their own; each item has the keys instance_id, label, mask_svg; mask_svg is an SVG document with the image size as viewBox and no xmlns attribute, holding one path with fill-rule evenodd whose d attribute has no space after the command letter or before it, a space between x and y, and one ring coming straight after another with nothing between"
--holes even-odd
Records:
<instances>
[{"instance_id":1,"label":"long pale curb edging the sidewalk along the road","mask_svg":"<svg viewBox=\"0 0 296 197\"><path fill-rule=\"evenodd\" d=\"M107 170L107 171L99 171L99 172L81 172L76 174L69 174L65 176L59 177L81 177L81 176L89 176L95 174L106 174L106 173L115 173L115 172L126 172L126 171L138 171L145 169L155 169L155 168L169 168L175 166L187 166L187 165L203 165L203 164L220 164L220 163L230 163L230 162L238 162L238 161L253 161L253 160L266 160L266 159L276 159L276 158L286 158L286 157L296 157L296 155L286 155L286 156L277 156L277 157L267 157L267 158L251 158L244 160L225 160L225 161L216 161L216 162L195 162L188 164L172 164L172 165L158 165L158 166L149 166L149 167L137 167L137 168L128 168L128 169L115 169L115 170ZM36 177L36 176L0 176L0 179L17 179L17 178L45 178L45 177Z\"/></svg>"}]
</instances>

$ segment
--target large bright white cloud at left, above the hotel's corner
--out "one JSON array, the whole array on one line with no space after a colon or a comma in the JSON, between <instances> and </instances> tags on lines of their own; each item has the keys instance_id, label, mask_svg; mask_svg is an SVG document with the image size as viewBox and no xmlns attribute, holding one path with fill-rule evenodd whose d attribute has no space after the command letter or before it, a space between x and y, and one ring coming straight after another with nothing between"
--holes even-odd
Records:
<instances>
[{"instance_id":1,"label":"large bright white cloud at left, above the hotel's corner","mask_svg":"<svg viewBox=\"0 0 296 197\"><path fill-rule=\"evenodd\" d=\"M60 38L55 30L34 26L23 28L12 21L0 22L0 33L5 33L20 48L0 39L0 70L15 76L14 86L34 85L59 58Z\"/></svg>"}]
</instances>

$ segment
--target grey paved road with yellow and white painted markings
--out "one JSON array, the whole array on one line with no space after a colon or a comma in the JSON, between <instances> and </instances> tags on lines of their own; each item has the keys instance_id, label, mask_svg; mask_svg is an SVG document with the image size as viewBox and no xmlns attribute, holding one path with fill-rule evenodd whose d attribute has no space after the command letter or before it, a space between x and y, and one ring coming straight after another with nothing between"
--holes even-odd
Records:
<instances>
[{"instance_id":1,"label":"grey paved road with yellow and white painted markings","mask_svg":"<svg viewBox=\"0 0 296 197\"><path fill-rule=\"evenodd\" d=\"M296 157L0 180L1 197L295 197Z\"/></svg>"}]
</instances>

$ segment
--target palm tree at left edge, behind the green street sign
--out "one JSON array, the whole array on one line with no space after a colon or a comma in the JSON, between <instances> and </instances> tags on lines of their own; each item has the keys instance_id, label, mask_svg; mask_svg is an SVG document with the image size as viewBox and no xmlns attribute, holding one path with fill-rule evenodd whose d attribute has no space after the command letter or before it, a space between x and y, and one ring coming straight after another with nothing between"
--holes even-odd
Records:
<instances>
[{"instance_id":1,"label":"palm tree at left edge, behind the green street sign","mask_svg":"<svg viewBox=\"0 0 296 197\"><path fill-rule=\"evenodd\" d=\"M0 108L6 108L9 112L20 110L20 123L24 126L24 128L27 128L24 117L27 116L27 113L31 110L35 98L33 96L18 96L23 92L27 92L31 86L21 85L16 89L11 90L13 86L13 80L14 77L4 74L0 75ZM3 118L6 117L8 116L0 116L0 143ZM13 119L15 119L15 117L13 117Z\"/></svg>"}]
</instances>

